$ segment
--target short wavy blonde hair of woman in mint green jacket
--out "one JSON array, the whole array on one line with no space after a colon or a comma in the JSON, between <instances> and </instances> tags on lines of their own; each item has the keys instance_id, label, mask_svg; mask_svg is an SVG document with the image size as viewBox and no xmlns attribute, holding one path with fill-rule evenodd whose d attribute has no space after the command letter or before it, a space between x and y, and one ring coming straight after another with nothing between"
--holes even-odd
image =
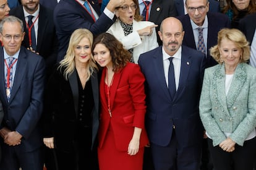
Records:
<instances>
[{"instance_id":1,"label":"short wavy blonde hair of woman in mint green jacket","mask_svg":"<svg viewBox=\"0 0 256 170\"><path fill-rule=\"evenodd\" d=\"M245 35L235 28L223 28L218 32L218 44L210 48L210 54L219 63L223 63L220 56L220 45L222 40L233 41L237 48L242 49L240 62L247 62L250 58L250 46Z\"/></svg>"}]
</instances>

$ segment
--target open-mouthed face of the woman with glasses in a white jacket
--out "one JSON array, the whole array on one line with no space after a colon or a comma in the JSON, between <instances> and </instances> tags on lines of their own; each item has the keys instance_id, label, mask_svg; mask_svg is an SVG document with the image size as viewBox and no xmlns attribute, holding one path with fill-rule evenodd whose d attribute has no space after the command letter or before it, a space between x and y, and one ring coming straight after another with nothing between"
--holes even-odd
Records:
<instances>
[{"instance_id":1,"label":"open-mouthed face of the woman with glasses in a white jacket","mask_svg":"<svg viewBox=\"0 0 256 170\"><path fill-rule=\"evenodd\" d=\"M116 15L122 22L131 25L134 21L136 7L137 6L134 1L126 0L124 4L122 4L122 7L119 7L119 9L117 9Z\"/></svg>"}]
</instances>

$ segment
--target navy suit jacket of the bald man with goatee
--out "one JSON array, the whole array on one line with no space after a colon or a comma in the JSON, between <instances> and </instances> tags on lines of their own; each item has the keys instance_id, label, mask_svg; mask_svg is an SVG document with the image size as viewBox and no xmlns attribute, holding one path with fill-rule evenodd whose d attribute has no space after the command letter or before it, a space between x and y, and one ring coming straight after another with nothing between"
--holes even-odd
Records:
<instances>
[{"instance_id":1,"label":"navy suit jacket of the bald man with goatee","mask_svg":"<svg viewBox=\"0 0 256 170\"><path fill-rule=\"evenodd\" d=\"M173 100L164 77L162 46L141 54L139 66L146 79L146 129L150 143L166 147L171 141L173 125L182 148L202 142L198 103L205 55L182 46L179 88Z\"/></svg>"}]
</instances>

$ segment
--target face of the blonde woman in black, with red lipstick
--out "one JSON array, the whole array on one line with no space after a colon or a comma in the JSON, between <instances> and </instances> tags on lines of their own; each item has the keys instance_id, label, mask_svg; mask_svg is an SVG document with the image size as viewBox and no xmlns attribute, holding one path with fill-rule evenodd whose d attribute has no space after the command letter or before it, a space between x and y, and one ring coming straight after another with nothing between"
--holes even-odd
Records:
<instances>
[{"instance_id":1,"label":"face of the blonde woman in black, with red lipstick","mask_svg":"<svg viewBox=\"0 0 256 170\"><path fill-rule=\"evenodd\" d=\"M75 64L84 64L89 61L92 55L92 45L88 38L83 38L77 46L74 47Z\"/></svg>"}]
</instances>

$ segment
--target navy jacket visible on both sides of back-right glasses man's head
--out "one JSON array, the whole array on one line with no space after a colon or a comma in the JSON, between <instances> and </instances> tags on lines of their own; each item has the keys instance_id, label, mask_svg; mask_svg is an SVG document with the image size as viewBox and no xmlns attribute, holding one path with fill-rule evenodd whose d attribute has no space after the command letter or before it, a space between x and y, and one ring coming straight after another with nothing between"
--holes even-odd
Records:
<instances>
[{"instance_id":1,"label":"navy jacket visible on both sides of back-right glasses man's head","mask_svg":"<svg viewBox=\"0 0 256 170\"><path fill-rule=\"evenodd\" d=\"M218 1L215 0L208 0L210 2L209 4L209 12L221 12L220 10L220 4ZM177 14L178 15L184 15L184 2L183 0L174 0Z\"/></svg>"}]
</instances>

